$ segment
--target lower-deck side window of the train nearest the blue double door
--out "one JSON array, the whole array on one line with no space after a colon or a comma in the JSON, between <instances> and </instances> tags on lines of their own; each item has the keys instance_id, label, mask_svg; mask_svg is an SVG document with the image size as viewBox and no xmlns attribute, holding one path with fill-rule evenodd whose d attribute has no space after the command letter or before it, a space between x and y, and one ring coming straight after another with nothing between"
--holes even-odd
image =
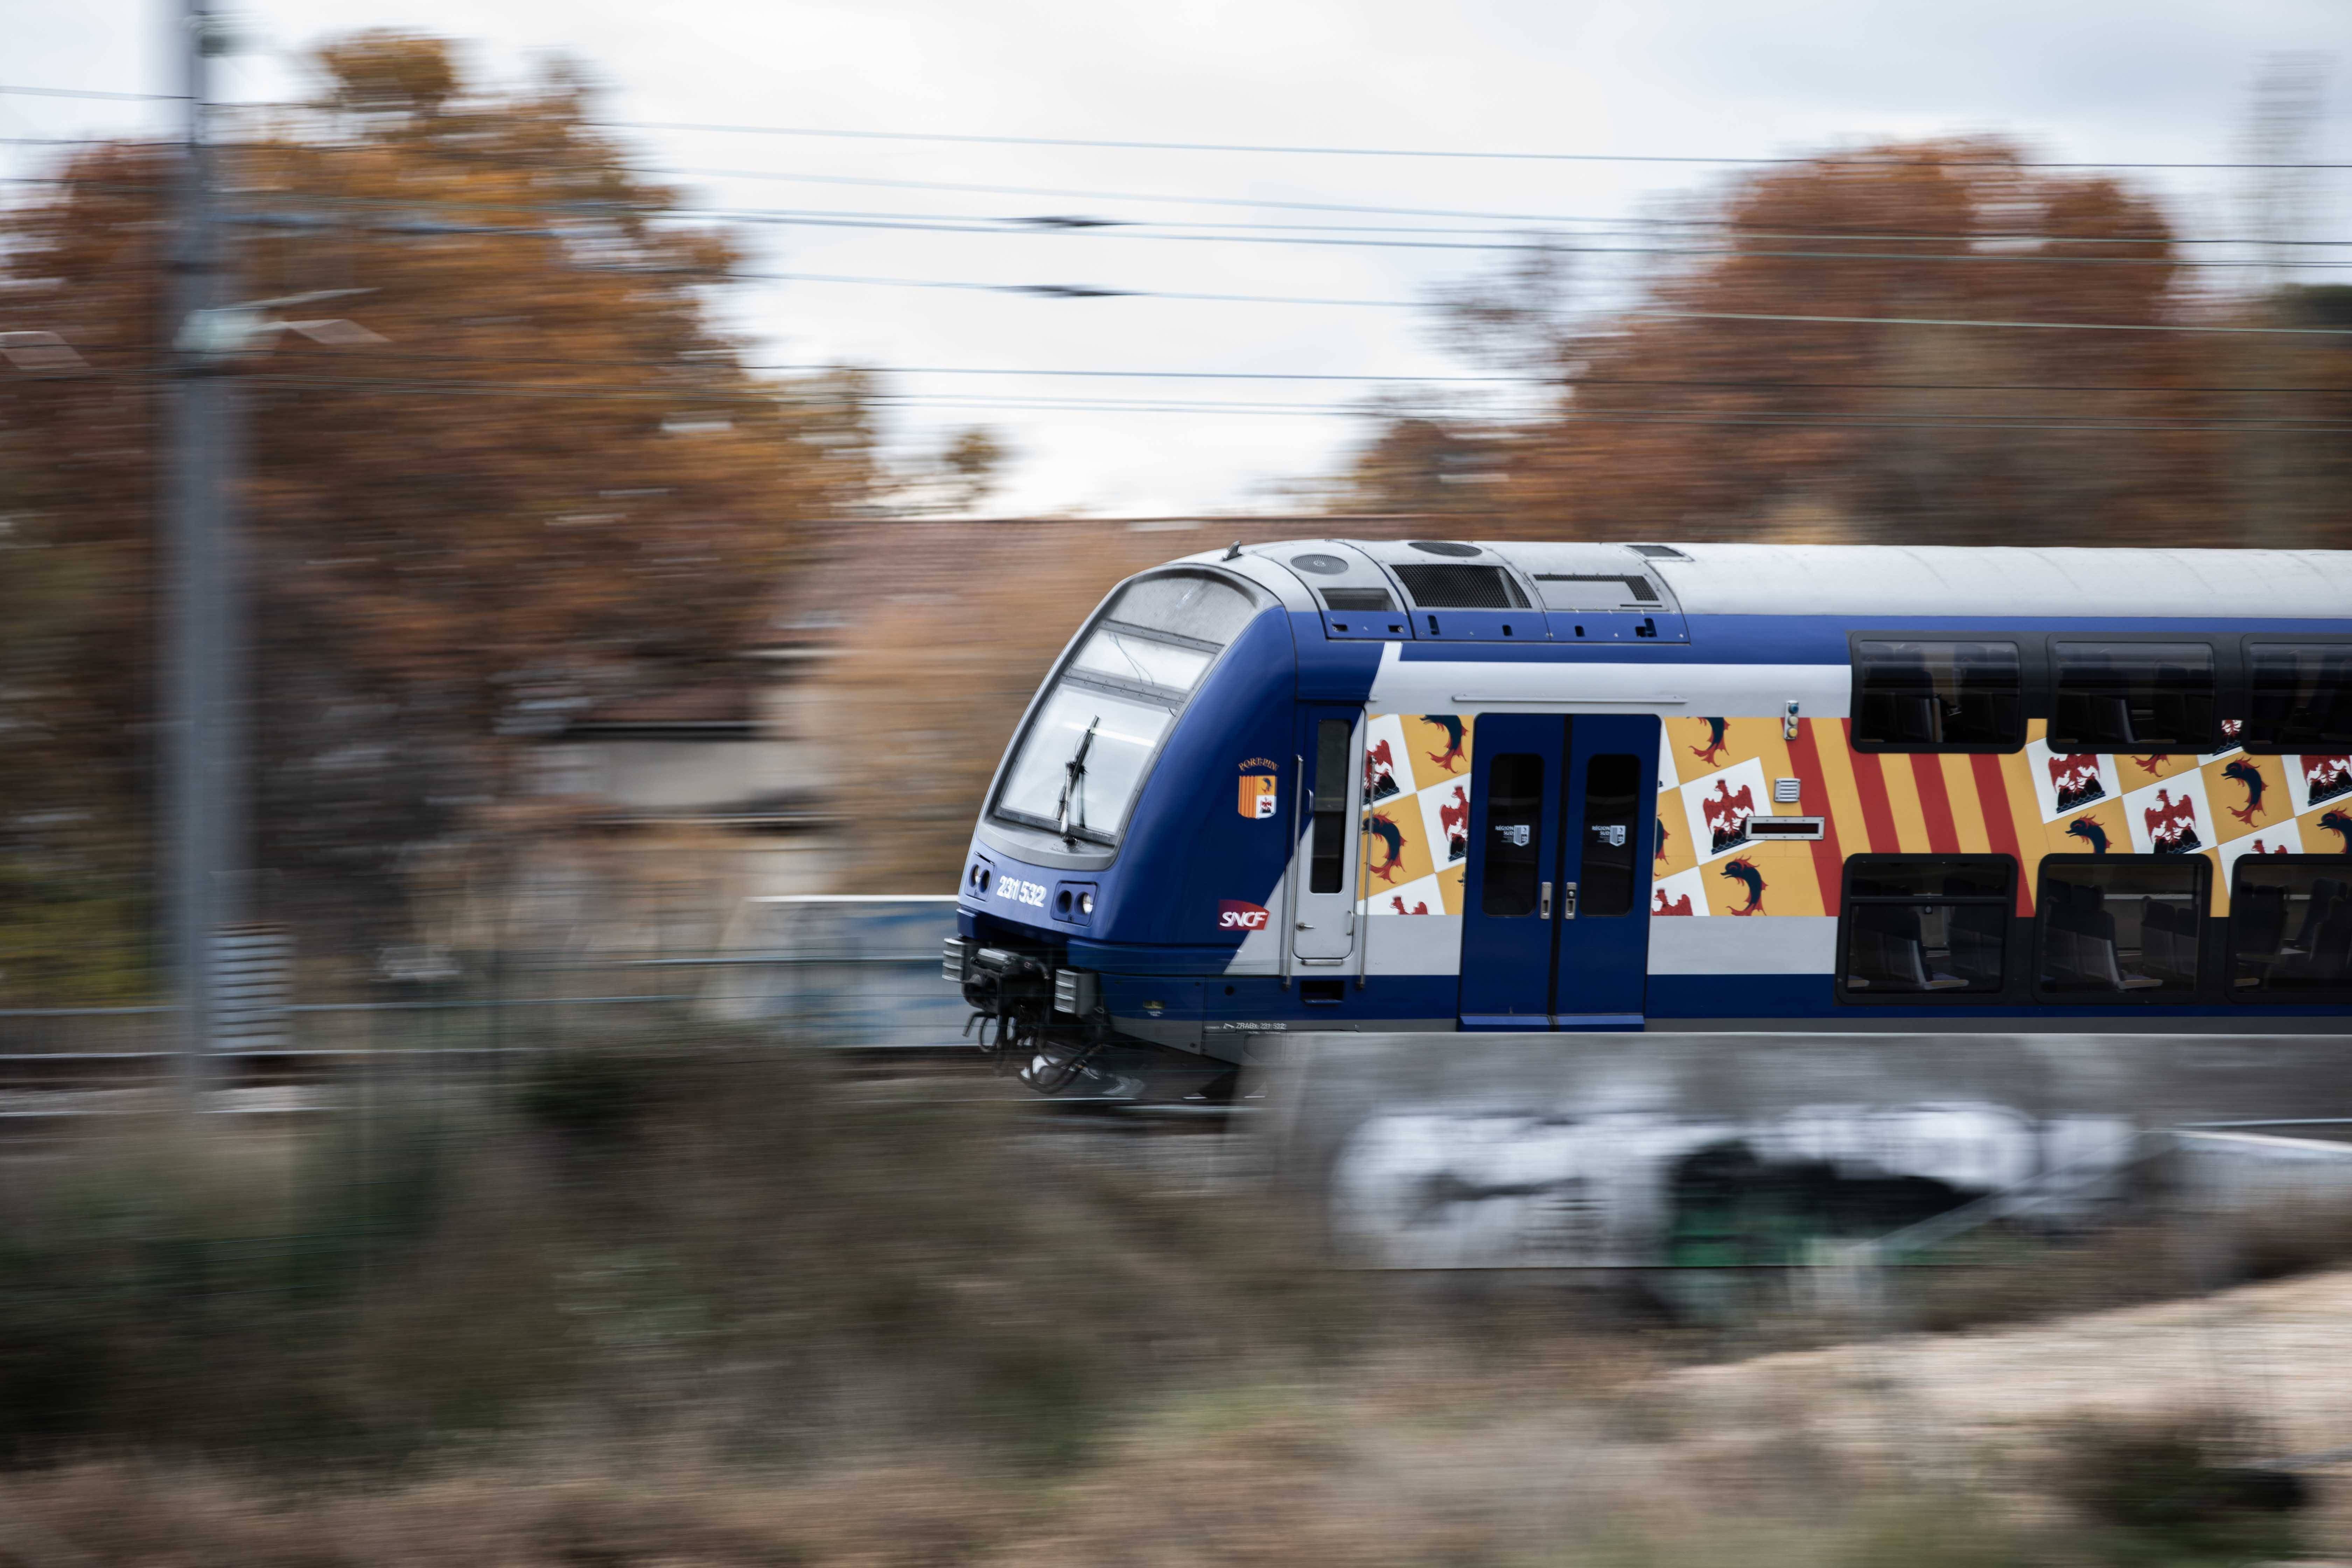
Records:
<instances>
[{"instance_id":1,"label":"lower-deck side window of the train nearest the blue double door","mask_svg":"<svg viewBox=\"0 0 2352 1568\"><path fill-rule=\"evenodd\" d=\"M1851 856L1842 994L1999 992L2016 875L2009 856Z\"/></svg>"}]
</instances>

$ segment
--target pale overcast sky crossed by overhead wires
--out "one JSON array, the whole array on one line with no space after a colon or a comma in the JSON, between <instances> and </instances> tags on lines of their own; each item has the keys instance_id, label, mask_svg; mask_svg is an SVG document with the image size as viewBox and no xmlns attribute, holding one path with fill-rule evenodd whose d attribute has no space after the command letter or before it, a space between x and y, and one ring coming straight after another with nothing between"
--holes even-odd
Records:
<instances>
[{"instance_id":1,"label":"pale overcast sky crossed by overhead wires","mask_svg":"<svg viewBox=\"0 0 2352 1568\"><path fill-rule=\"evenodd\" d=\"M0 82L169 92L176 0L0 0ZM402 26L468 42L515 75L536 54L586 61L621 120L1218 141L1343 148L1776 158L1886 136L1999 132L2084 162L2241 155L2251 87L2281 52L2328 56L2310 155L2352 162L2352 0L1155 0L1150 5L866 0L259 0L228 96L278 99L325 35ZM165 106L0 96L0 136L141 129ZM1482 244L1534 223L1218 202L1324 202L1623 221L1698 195L1710 165L1475 162L1296 153L955 146L642 132L642 162L699 205L971 219L985 233L748 228L753 270L1178 294L1425 301L1498 266L1477 249L1171 240L1202 223L1421 223ZM35 172L0 148L0 172ZM802 179L786 179L802 176ZM2145 172L2190 233L2244 233L2249 176ZM920 190L847 181L1023 186L1089 195ZM2352 179L2314 179L2312 237L2352 237ZM1009 221L1157 223L1004 233ZM1169 223L1181 228L1169 230ZM1232 230L1221 230L1232 233ZM1256 228L1251 233L1270 233ZM1329 235L1327 235L1329 237ZM1628 242L1621 233L1616 240ZM2328 252L2352 261L2352 249ZM1592 259L1585 299L1625 263ZM2319 277L2319 273L2312 273ZM2352 268L2333 273L2352 280ZM1369 383L943 376L913 367L1463 376L1425 308L1181 299L1030 299L842 282L748 284L736 322L764 362L908 367L891 414L917 449L985 423L1016 451L993 510L1249 510L1284 480L1331 473L1362 440ZM1494 388L1425 388L1494 397ZM1508 395L1501 393L1501 395ZM1127 400L1155 411L1040 409ZM1167 409L1164 404L1244 404ZM1282 411L1277 404L1305 411Z\"/></svg>"}]
</instances>

